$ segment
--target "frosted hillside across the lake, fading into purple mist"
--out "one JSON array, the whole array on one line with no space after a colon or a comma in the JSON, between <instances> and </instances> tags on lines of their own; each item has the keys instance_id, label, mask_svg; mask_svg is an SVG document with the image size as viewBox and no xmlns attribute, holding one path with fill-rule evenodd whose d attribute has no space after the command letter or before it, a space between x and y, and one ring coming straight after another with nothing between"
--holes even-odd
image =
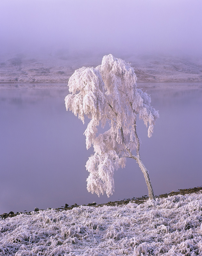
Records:
<instances>
[{"instance_id":1,"label":"frosted hillside across the lake, fading into purple mist","mask_svg":"<svg viewBox=\"0 0 202 256\"><path fill-rule=\"evenodd\" d=\"M75 69L96 67L103 56L69 56L66 52L49 55L0 56L0 83L67 83ZM202 61L157 55L117 56L131 63L138 82L202 82Z\"/></svg>"}]
</instances>

